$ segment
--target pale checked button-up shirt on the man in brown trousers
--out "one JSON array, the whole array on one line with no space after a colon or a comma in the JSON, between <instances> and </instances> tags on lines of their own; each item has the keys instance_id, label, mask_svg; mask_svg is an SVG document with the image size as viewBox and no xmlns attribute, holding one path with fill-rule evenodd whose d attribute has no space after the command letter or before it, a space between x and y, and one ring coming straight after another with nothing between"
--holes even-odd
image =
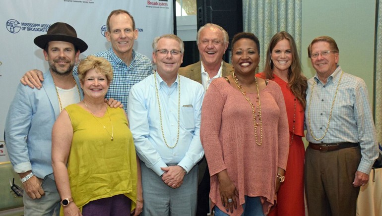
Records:
<instances>
[{"instance_id":1,"label":"pale checked button-up shirt on the man in brown trousers","mask_svg":"<svg viewBox=\"0 0 382 216\"><path fill-rule=\"evenodd\" d=\"M316 141L311 135L311 129L316 138L320 138L326 130L341 72L341 67L337 66L325 84L318 79L317 74L308 80L306 138L312 143L360 143L362 158L358 171L369 174L375 159L378 158L378 142L367 87L361 78L343 73L326 136ZM310 97L314 82L316 84L311 105ZM309 126L309 109L312 128Z\"/></svg>"}]
</instances>

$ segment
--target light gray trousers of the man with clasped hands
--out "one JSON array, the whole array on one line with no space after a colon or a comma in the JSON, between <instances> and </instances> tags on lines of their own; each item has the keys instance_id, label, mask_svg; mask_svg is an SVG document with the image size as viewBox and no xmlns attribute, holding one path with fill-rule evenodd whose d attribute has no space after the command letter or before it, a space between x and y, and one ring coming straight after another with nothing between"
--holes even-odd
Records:
<instances>
[{"instance_id":1,"label":"light gray trousers of the man with clasped hands","mask_svg":"<svg viewBox=\"0 0 382 216\"><path fill-rule=\"evenodd\" d=\"M176 189L140 162L142 172L143 212L141 216L195 216L197 200L197 165L185 175Z\"/></svg>"}]
</instances>

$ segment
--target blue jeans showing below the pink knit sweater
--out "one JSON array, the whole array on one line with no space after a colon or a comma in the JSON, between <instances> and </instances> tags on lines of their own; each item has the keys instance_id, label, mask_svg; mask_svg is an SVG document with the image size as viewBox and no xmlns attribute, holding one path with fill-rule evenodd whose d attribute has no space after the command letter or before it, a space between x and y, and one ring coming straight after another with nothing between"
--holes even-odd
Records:
<instances>
[{"instance_id":1,"label":"blue jeans showing below the pink knit sweater","mask_svg":"<svg viewBox=\"0 0 382 216\"><path fill-rule=\"evenodd\" d=\"M242 216L264 216L262 212L262 205L259 197L245 196L245 203L243 204L244 213ZM215 216L229 216L225 210L220 210L215 206Z\"/></svg>"}]
</instances>

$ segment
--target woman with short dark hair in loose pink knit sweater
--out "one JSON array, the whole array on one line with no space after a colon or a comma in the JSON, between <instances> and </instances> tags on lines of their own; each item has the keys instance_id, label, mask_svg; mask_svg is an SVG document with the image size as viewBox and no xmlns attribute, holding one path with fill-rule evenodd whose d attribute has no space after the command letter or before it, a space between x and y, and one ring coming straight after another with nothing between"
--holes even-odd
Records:
<instances>
[{"instance_id":1,"label":"woman with short dark hair in loose pink knit sweater","mask_svg":"<svg viewBox=\"0 0 382 216\"><path fill-rule=\"evenodd\" d=\"M284 180L288 119L280 87L255 78L259 42L239 33L232 75L215 79L204 97L200 138L211 176L215 216L262 216Z\"/></svg>"}]
</instances>

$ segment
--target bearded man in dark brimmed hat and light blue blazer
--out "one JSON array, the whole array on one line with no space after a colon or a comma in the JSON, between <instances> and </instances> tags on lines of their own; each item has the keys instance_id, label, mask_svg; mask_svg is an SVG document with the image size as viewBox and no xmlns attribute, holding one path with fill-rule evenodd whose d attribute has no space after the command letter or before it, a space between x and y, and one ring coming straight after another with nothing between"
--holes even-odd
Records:
<instances>
[{"instance_id":1,"label":"bearded man in dark brimmed hat and light blue blazer","mask_svg":"<svg viewBox=\"0 0 382 216\"><path fill-rule=\"evenodd\" d=\"M24 186L24 215L59 215L60 196L53 176L52 127L61 110L81 101L72 71L87 44L66 23L54 23L34 43L43 49L49 71L41 90L19 84L5 123L6 148Z\"/></svg>"}]
</instances>

